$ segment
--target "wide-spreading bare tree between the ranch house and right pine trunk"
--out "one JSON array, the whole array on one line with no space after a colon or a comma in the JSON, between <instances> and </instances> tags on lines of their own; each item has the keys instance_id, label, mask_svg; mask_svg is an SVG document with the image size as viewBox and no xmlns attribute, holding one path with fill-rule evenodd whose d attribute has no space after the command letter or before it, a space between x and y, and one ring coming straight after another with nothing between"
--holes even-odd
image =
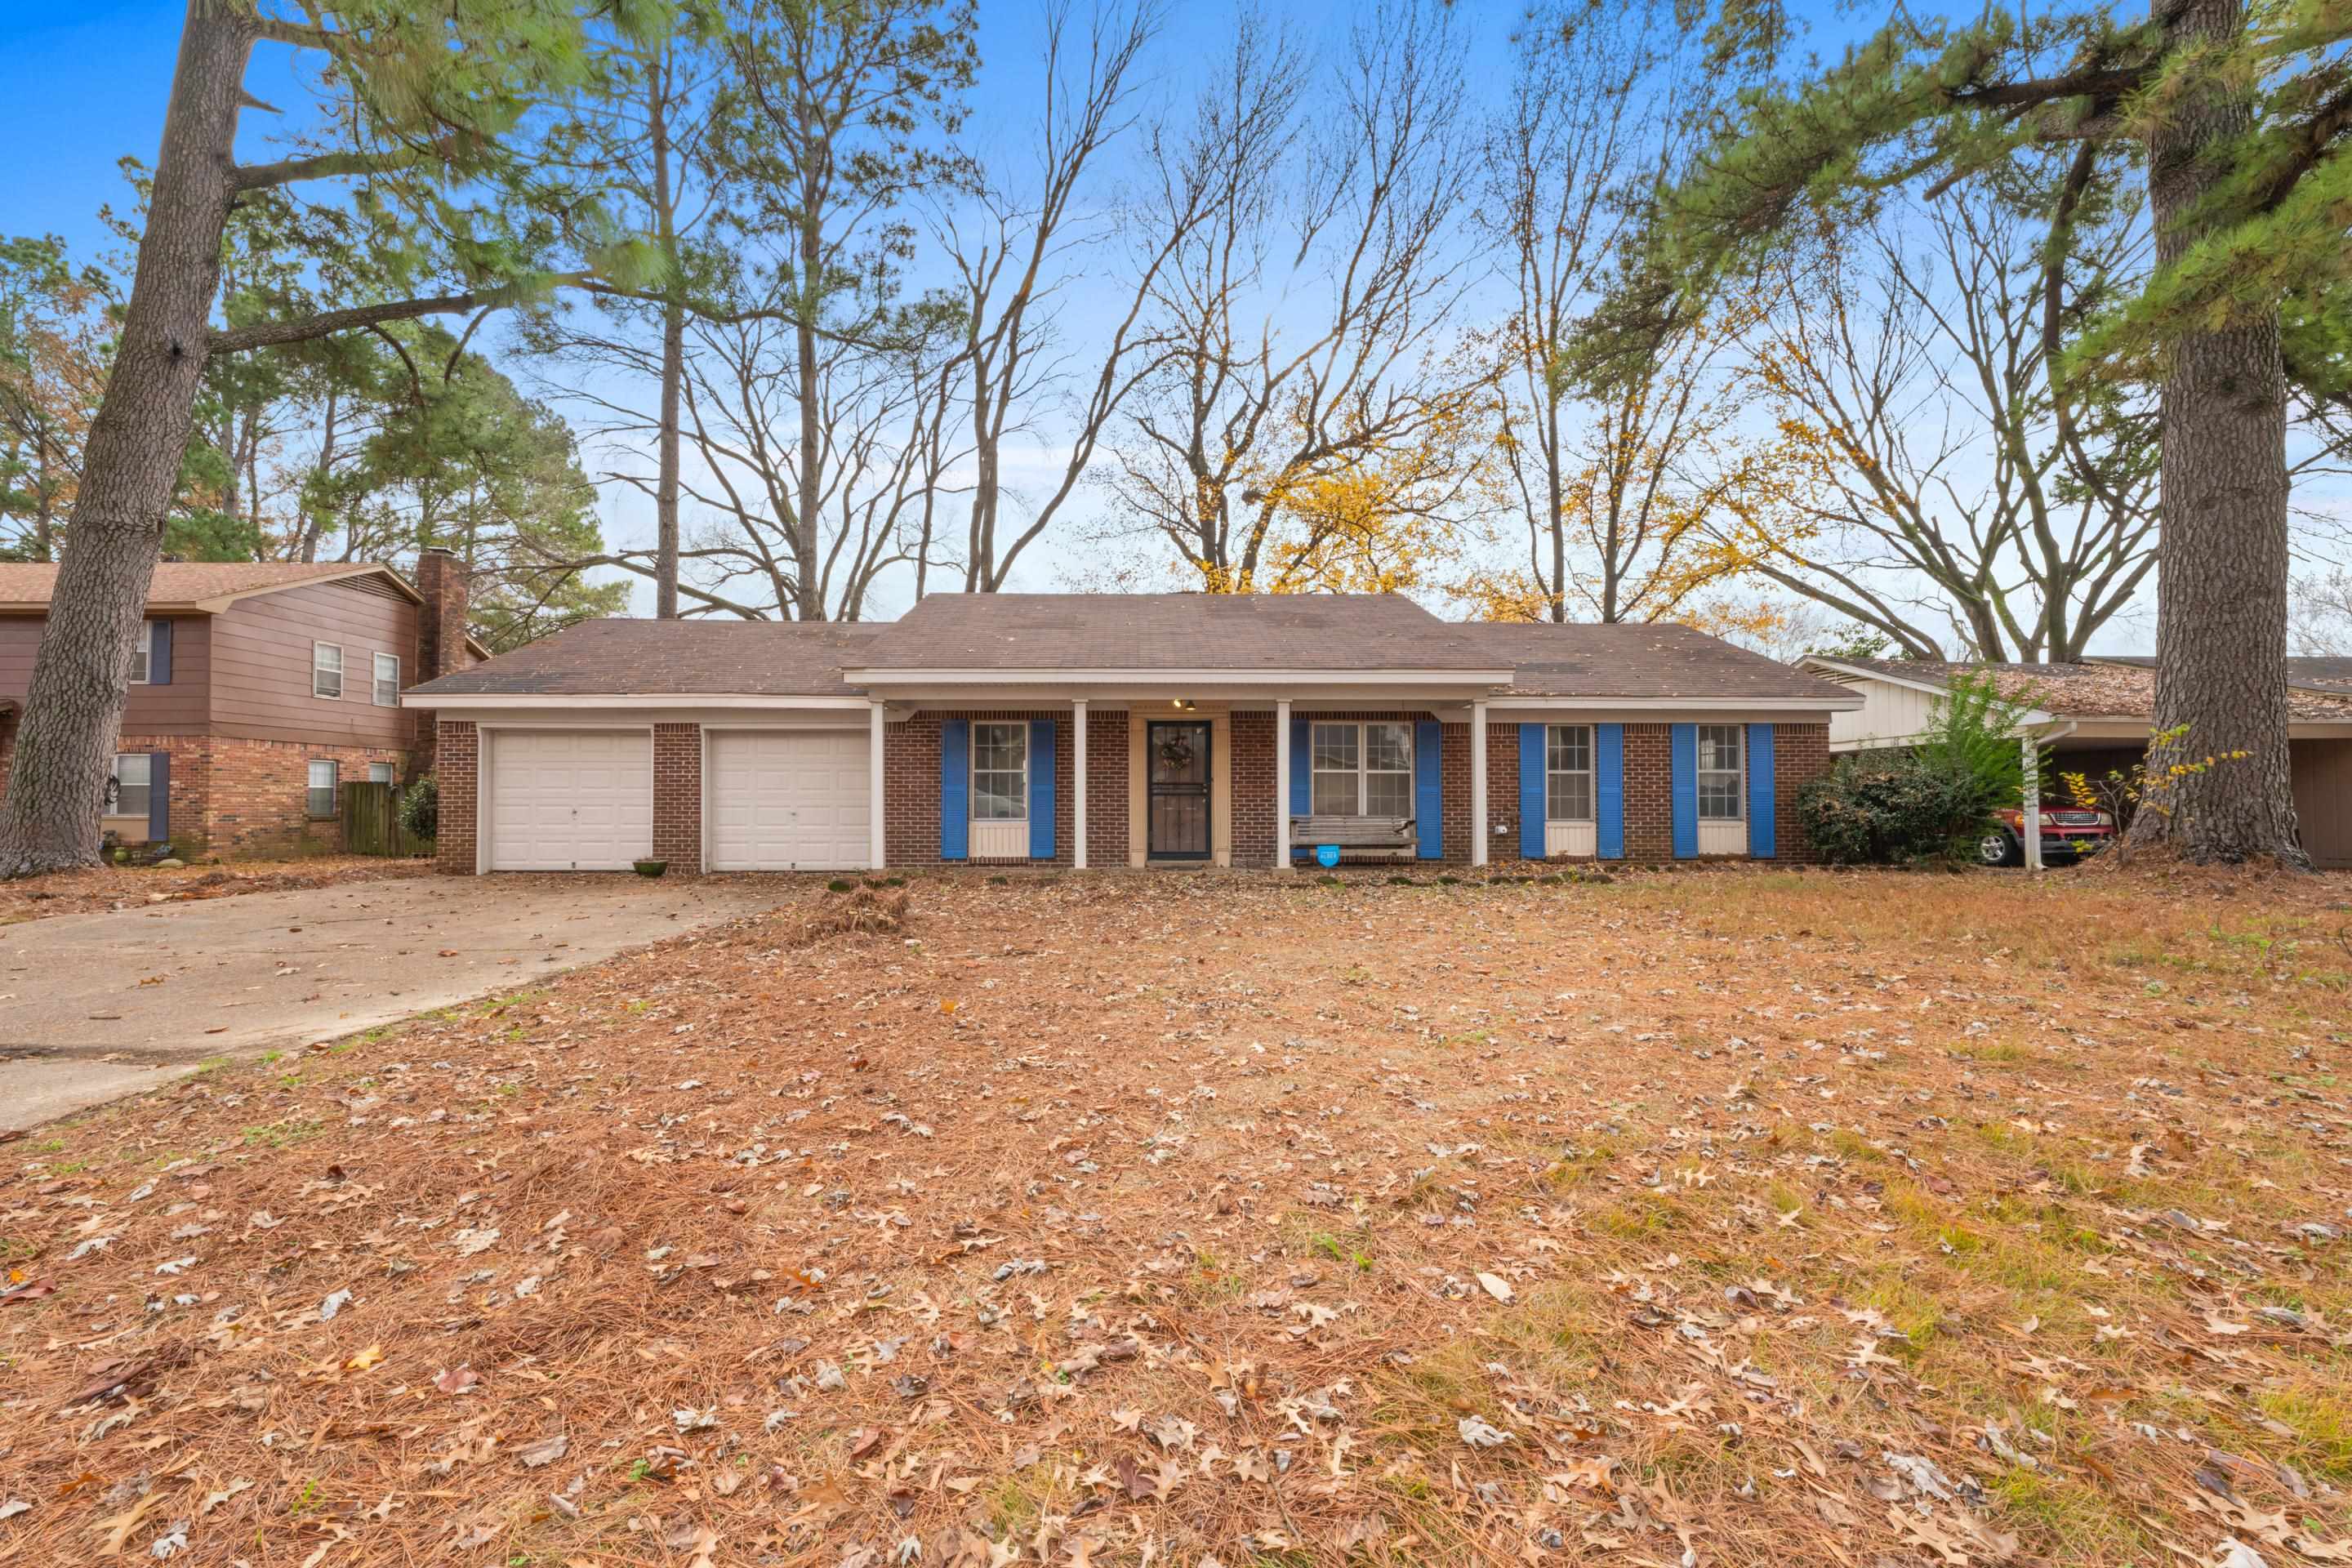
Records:
<instances>
[{"instance_id":1,"label":"wide-spreading bare tree between the ranch house and right pine trunk","mask_svg":"<svg viewBox=\"0 0 2352 1568\"><path fill-rule=\"evenodd\" d=\"M2084 146L1778 266L1745 348L1788 484L1722 512L1757 574L1919 658L2084 654L2157 562L2152 400L2065 374L2147 261L2124 174Z\"/></svg>"}]
</instances>

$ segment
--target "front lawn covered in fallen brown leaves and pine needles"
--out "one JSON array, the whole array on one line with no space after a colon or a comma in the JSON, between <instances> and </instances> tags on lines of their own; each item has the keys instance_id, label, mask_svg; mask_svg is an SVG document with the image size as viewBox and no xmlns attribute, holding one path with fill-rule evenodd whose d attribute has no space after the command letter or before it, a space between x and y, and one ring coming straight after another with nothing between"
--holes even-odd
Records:
<instances>
[{"instance_id":1,"label":"front lawn covered in fallen brown leaves and pine needles","mask_svg":"<svg viewBox=\"0 0 2352 1568\"><path fill-rule=\"evenodd\" d=\"M9 1145L0 1561L2352 1561L2343 891L793 884Z\"/></svg>"}]
</instances>

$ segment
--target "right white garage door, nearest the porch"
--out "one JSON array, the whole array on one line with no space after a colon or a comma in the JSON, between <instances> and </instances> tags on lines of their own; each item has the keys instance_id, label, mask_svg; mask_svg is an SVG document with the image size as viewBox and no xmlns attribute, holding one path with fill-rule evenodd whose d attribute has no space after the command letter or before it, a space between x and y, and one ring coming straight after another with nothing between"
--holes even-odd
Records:
<instances>
[{"instance_id":1,"label":"right white garage door, nearest the porch","mask_svg":"<svg viewBox=\"0 0 2352 1568\"><path fill-rule=\"evenodd\" d=\"M868 745L863 729L710 731L710 870L866 865Z\"/></svg>"}]
</instances>

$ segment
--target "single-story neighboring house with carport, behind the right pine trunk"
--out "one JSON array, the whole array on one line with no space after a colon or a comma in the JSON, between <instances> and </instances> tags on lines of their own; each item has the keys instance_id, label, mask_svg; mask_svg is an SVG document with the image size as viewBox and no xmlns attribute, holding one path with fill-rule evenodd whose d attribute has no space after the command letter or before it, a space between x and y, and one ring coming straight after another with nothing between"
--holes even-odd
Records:
<instances>
[{"instance_id":1,"label":"single-story neighboring house with carport, behind the right pine trunk","mask_svg":"<svg viewBox=\"0 0 2352 1568\"><path fill-rule=\"evenodd\" d=\"M1804 668L1846 686L1856 708L1830 719L1830 750L1860 752L1919 738L1929 705L1959 672L1990 675L2025 698L2018 731L2049 745L2060 773L2129 773L2147 755L2157 722L2157 661L2145 654L2070 665L1933 663L1917 658L1806 658ZM2194 745L2194 736L2190 743ZM2303 853L2319 867L2352 867L2352 658L2286 661L2286 766ZM2065 785L2042 780L2065 802Z\"/></svg>"}]
</instances>

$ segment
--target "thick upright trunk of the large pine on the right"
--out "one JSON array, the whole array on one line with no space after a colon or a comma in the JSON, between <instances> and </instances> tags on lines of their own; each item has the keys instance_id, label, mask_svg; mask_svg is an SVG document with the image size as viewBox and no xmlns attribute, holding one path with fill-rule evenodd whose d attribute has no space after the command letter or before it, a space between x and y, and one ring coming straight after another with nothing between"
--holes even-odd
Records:
<instances>
[{"instance_id":1,"label":"thick upright trunk of the large pine on the right","mask_svg":"<svg viewBox=\"0 0 2352 1568\"><path fill-rule=\"evenodd\" d=\"M2244 0L2187 0L2169 12L2166 49L2234 40L2244 26ZM2150 136L2159 266L2204 235L2183 219L2220 172L2209 148L2251 125L2244 96L2204 92ZM2152 748L2147 769L2246 757L2161 785L2169 809L2143 809L2131 837L2171 842L2192 860L2305 865L2286 757L2286 371L2274 313L2169 348L2161 440L2157 729L2187 731Z\"/></svg>"}]
</instances>

